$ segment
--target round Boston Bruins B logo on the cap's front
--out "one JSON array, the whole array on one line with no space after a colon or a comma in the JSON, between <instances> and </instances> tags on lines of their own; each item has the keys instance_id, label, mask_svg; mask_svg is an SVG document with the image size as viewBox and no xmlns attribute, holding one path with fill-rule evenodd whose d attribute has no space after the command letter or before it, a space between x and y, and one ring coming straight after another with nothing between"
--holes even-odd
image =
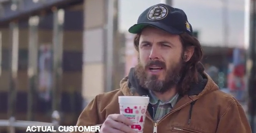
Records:
<instances>
[{"instance_id":1,"label":"round Boston Bruins B logo on the cap's front","mask_svg":"<svg viewBox=\"0 0 256 133\"><path fill-rule=\"evenodd\" d=\"M158 5L154 6L147 15L149 20L161 20L168 14L168 9L165 6Z\"/></svg>"}]
</instances>

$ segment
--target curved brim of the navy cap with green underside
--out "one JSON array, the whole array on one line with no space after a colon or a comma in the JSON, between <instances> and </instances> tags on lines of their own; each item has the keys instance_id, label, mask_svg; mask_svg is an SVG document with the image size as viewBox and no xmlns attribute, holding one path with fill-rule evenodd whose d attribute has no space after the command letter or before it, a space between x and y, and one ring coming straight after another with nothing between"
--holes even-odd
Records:
<instances>
[{"instance_id":1,"label":"curved brim of the navy cap with green underside","mask_svg":"<svg viewBox=\"0 0 256 133\"><path fill-rule=\"evenodd\" d=\"M138 34L142 31L142 29L145 26L152 26L152 27L155 27L155 28L159 28L161 30L164 30L164 31L170 33L170 34L182 34L182 33L184 33L183 31L177 30L177 29L172 28L170 26L166 26L166 25L164 25L162 23L159 23L159 22L147 22L147 23L135 24L135 25L131 26L131 28L129 28L128 31L132 34Z\"/></svg>"}]
</instances>

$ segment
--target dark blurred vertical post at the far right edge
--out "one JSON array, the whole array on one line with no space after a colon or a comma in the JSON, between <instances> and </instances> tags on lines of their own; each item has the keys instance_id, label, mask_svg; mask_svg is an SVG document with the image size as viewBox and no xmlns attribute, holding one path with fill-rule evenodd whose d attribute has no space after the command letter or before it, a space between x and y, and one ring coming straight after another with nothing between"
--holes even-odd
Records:
<instances>
[{"instance_id":1,"label":"dark blurred vertical post at the far right edge","mask_svg":"<svg viewBox=\"0 0 256 133\"><path fill-rule=\"evenodd\" d=\"M248 72L248 113L250 115L250 126L254 133L254 117L256 113L256 0L250 0L250 28L249 28L249 48L247 55Z\"/></svg>"}]
</instances>

